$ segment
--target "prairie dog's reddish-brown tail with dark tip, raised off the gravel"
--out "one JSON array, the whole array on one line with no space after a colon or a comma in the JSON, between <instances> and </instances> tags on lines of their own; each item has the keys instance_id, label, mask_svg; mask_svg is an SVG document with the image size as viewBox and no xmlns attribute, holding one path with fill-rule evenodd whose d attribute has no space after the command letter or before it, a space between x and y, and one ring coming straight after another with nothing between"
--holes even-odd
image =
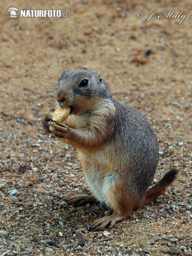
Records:
<instances>
[{"instance_id":1,"label":"prairie dog's reddish-brown tail with dark tip, raised off the gravel","mask_svg":"<svg viewBox=\"0 0 192 256\"><path fill-rule=\"evenodd\" d=\"M158 182L151 189L147 190L141 202L139 202L139 204L136 206L136 209L139 207L146 206L147 204L149 204L149 202L156 199L159 195L165 193L166 187L169 186L175 180L177 174L178 170L174 168L168 171L160 180L160 182Z\"/></svg>"}]
</instances>

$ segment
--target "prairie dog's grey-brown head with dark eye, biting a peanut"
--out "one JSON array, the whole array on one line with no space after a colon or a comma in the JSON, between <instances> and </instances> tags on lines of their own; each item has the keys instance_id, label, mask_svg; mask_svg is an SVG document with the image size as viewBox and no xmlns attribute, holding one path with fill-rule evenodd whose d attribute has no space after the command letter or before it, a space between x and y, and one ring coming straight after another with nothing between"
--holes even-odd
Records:
<instances>
[{"instance_id":1,"label":"prairie dog's grey-brown head with dark eye, biting a peanut","mask_svg":"<svg viewBox=\"0 0 192 256\"><path fill-rule=\"evenodd\" d=\"M109 88L102 77L92 71L74 69L64 71L55 95L61 107L70 107L72 112L88 111L110 97Z\"/></svg>"}]
</instances>

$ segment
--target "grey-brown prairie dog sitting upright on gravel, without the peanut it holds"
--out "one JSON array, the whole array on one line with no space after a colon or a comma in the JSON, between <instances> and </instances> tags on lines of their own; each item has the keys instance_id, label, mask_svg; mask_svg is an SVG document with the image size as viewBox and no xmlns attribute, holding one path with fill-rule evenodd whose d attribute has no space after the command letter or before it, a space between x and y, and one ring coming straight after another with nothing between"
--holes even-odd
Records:
<instances>
[{"instance_id":1,"label":"grey-brown prairie dog sitting upright on gravel, without the peanut it holds","mask_svg":"<svg viewBox=\"0 0 192 256\"><path fill-rule=\"evenodd\" d=\"M46 117L42 127L77 149L86 182L93 195L74 195L68 204L105 203L113 215L96 220L92 229L112 227L165 192L177 175L171 169L151 185L159 160L159 144L150 124L138 110L117 102L102 77L92 71L64 71L55 96L71 109L64 123Z\"/></svg>"}]
</instances>

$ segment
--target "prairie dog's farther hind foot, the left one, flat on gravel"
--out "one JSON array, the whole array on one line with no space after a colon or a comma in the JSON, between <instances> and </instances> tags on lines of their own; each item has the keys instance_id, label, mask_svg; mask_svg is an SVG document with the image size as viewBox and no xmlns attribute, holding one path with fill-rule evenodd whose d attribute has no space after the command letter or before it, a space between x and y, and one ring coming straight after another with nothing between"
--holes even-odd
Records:
<instances>
[{"instance_id":1,"label":"prairie dog's farther hind foot, the left one, flat on gravel","mask_svg":"<svg viewBox=\"0 0 192 256\"><path fill-rule=\"evenodd\" d=\"M97 200L93 195L73 195L71 197L66 197L64 202L70 205L79 203L80 206L87 203L97 202Z\"/></svg>"}]
</instances>

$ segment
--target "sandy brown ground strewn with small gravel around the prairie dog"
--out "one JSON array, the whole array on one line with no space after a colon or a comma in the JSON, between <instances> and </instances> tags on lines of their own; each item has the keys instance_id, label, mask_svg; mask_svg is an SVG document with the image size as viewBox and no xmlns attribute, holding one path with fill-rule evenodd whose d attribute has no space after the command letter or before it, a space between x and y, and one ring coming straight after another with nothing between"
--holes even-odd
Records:
<instances>
[{"instance_id":1,"label":"sandy brown ground strewn with small gravel around the prairie dog","mask_svg":"<svg viewBox=\"0 0 192 256\"><path fill-rule=\"evenodd\" d=\"M11 19L11 6L61 9L68 17ZM187 17L180 26L180 19L142 24L152 10ZM192 255L190 12L190 0L0 2L0 255ZM60 209L66 194L89 190L75 148L40 127L56 108L45 105L48 91L62 70L75 68L101 74L117 101L151 122L160 144L154 183L179 169L165 195L109 233L87 229L108 214L95 204Z\"/></svg>"}]
</instances>

